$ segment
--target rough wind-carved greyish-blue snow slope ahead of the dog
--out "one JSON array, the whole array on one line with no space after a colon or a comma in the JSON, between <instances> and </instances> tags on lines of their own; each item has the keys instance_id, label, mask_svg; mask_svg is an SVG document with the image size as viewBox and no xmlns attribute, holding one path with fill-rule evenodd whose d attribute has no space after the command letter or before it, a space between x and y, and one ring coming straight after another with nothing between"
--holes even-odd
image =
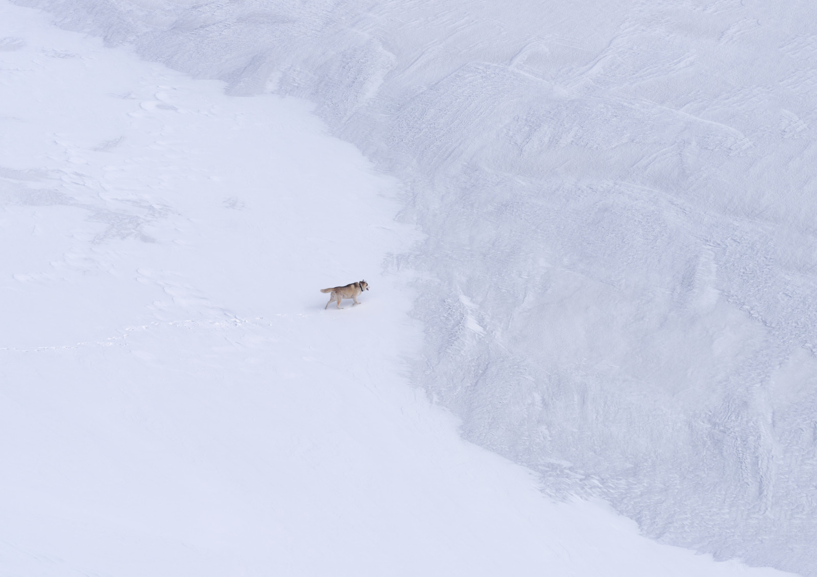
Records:
<instances>
[{"instance_id":1,"label":"rough wind-carved greyish-blue snow slope ahead of the dog","mask_svg":"<svg viewBox=\"0 0 817 577\"><path fill-rule=\"evenodd\" d=\"M415 377L468 439L817 575L812 2L20 3L305 96L404 180Z\"/></svg>"}]
</instances>

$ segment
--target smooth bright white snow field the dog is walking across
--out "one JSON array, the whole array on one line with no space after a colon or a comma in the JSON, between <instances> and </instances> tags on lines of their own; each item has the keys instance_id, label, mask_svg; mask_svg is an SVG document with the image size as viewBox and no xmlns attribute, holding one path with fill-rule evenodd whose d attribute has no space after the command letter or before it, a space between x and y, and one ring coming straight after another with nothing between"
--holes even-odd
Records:
<instances>
[{"instance_id":1,"label":"smooth bright white snow field the dog is walking across","mask_svg":"<svg viewBox=\"0 0 817 577\"><path fill-rule=\"evenodd\" d=\"M0 2L0 572L782 575L462 441L409 386L399 184L308 104L47 21Z\"/></svg>"}]
</instances>

